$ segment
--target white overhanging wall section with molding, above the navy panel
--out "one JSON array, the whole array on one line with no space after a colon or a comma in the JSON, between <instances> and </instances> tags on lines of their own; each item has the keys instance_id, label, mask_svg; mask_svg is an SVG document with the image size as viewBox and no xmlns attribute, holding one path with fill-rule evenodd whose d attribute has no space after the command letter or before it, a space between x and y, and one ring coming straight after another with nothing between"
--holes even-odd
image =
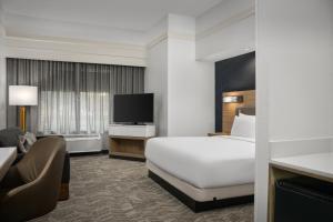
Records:
<instances>
[{"instance_id":1,"label":"white overhanging wall section with molding, above the navy panel","mask_svg":"<svg viewBox=\"0 0 333 222\"><path fill-rule=\"evenodd\" d=\"M220 61L255 49L254 0L225 0L196 18L196 59Z\"/></svg>"}]
</instances>

